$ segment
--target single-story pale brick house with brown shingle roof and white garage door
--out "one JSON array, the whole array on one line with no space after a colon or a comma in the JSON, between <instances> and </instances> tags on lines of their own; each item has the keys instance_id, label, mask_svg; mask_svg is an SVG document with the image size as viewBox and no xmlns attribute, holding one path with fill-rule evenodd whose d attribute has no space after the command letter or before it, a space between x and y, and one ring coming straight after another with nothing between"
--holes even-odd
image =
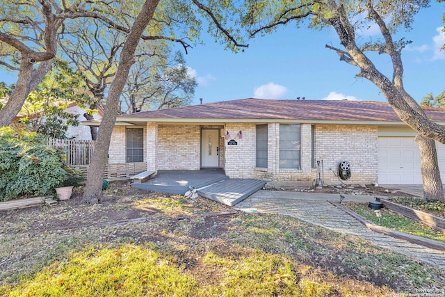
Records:
<instances>
[{"instance_id":1,"label":"single-story pale brick house with brown shingle roof and white garage door","mask_svg":"<svg viewBox=\"0 0 445 297\"><path fill-rule=\"evenodd\" d=\"M445 110L424 109L445 123ZM85 122L97 125L97 121ZM415 133L383 102L239 99L120 115L109 163L146 162L147 170L223 168L229 177L326 184L421 184ZM445 146L438 145L445 180ZM322 169L322 168L321 168Z\"/></svg>"}]
</instances>

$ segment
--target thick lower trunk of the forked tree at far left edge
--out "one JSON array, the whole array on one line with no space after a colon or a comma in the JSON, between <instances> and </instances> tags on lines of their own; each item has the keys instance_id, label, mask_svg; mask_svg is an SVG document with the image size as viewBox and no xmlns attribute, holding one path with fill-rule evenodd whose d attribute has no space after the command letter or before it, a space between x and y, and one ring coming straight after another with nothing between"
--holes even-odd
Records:
<instances>
[{"instance_id":1,"label":"thick lower trunk of the forked tree at far left edge","mask_svg":"<svg viewBox=\"0 0 445 297\"><path fill-rule=\"evenodd\" d=\"M29 63L28 58L23 58L20 63L19 79L15 83L13 93L8 98L3 109L0 110L0 127L8 127L15 120L20 109L28 97L49 72L52 65L52 59L40 63L36 70L33 70L33 64Z\"/></svg>"}]
</instances>

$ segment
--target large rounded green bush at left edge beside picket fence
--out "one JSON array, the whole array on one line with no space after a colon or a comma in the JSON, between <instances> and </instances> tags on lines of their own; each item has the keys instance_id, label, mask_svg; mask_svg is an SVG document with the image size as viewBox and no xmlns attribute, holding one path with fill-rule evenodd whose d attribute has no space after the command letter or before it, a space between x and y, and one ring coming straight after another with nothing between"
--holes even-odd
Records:
<instances>
[{"instance_id":1,"label":"large rounded green bush at left edge beside picket fence","mask_svg":"<svg viewBox=\"0 0 445 297\"><path fill-rule=\"evenodd\" d=\"M0 200L49 194L69 177L65 154L44 139L32 132L0 129Z\"/></svg>"}]
</instances>

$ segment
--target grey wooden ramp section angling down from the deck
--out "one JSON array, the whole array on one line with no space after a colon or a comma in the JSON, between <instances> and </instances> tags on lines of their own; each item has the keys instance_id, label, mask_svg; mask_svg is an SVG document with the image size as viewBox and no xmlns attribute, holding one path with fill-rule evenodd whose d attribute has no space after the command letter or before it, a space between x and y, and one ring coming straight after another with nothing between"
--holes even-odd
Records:
<instances>
[{"instance_id":1,"label":"grey wooden ramp section angling down from the deck","mask_svg":"<svg viewBox=\"0 0 445 297\"><path fill-rule=\"evenodd\" d=\"M259 191L266 182L258 179L226 179L197 189L197 193L216 202L234 206Z\"/></svg>"}]
</instances>

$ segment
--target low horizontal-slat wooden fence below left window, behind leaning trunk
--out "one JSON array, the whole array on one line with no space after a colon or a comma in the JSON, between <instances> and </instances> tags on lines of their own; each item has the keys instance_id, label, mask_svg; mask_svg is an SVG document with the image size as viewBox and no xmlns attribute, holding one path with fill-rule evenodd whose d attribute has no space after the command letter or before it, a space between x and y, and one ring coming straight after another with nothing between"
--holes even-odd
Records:
<instances>
[{"instance_id":1,"label":"low horizontal-slat wooden fence below left window, behind leaning trunk","mask_svg":"<svg viewBox=\"0 0 445 297\"><path fill-rule=\"evenodd\" d=\"M86 177L88 165L72 166L79 172L79 177ZM108 163L105 166L104 179L117 180L128 179L132 175L147 170L146 162L138 163Z\"/></svg>"}]
</instances>

